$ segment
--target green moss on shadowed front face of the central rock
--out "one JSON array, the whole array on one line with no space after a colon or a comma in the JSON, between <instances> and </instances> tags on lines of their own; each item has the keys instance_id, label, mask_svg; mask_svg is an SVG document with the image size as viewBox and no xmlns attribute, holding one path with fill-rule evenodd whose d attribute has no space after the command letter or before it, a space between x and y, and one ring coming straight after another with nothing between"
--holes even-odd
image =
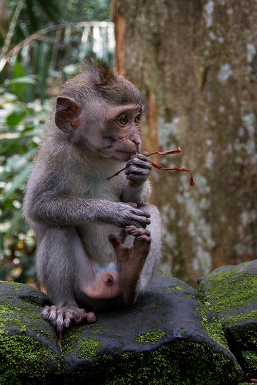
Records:
<instances>
[{"instance_id":1,"label":"green moss on shadowed front face of the central rock","mask_svg":"<svg viewBox=\"0 0 257 385\"><path fill-rule=\"evenodd\" d=\"M197 364L196 364L197 363ZM231 385L241 370L207 344L178 341L154 352L101 355L97 362L66 375L67 383L98 385Z\"/></svg>"}]
</instances>

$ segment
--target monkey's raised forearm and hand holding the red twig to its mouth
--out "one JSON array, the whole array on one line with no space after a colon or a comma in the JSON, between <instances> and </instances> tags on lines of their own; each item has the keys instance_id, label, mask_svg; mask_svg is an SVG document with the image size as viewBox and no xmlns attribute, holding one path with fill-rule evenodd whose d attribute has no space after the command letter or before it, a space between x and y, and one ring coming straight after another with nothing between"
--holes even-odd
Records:
<instances>
[{"instance_id":1,"label":"monkey's raised forearm and hand holding the red twig to its mouth","mask_svg":"<svg viewBox=\"0 0 257 385\"><path fill-rule=\"evenodd\" d=\"M132 156L126 163L125 174L128 183L122 192L123 202L148 203L151 195L151 186L148 181L151 168L150 159L141 153Z\"/></svg>"}]
</instances>

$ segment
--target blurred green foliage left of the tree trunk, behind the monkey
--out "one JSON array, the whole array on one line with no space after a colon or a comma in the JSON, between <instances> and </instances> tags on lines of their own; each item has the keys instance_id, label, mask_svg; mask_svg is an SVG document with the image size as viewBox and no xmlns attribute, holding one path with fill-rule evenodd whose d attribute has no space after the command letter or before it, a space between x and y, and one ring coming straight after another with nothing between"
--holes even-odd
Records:
<instances>
[{"instance_id":1,"label":"blurred green foliage left of the tree trunk, behind the monkey","mask_svg":"<svg viewBox=\"0 0 257 385\"><path fill-rule=\"evenodd\" d=\"M19 17L12 23L19 3ZM6 0L2 19L4 10L0 46L3 53L12 28L10 44L6 45L8 53L36 30L54 24L108 19L109 0ZM85 28L67 27L31 41L0 72L0 280L35 280L35 239L22 211L25 184L54 96L63 81L77 73L86 56L98 55L91 33L94 27L90 27L89 37L83 42ZM113 52L105 47L104 33L102 54L107 56L103 59L112 62Z\"/></svg>"}]
</instances>

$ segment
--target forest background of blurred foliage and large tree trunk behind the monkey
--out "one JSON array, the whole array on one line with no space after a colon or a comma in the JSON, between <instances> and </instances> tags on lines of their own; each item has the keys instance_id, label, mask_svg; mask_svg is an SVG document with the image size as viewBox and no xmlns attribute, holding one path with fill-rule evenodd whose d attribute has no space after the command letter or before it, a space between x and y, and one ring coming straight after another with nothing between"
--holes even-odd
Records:
<instances>
[{"instance_id":1,"label":"forest background of blurred foliage and large tree trunk behind the monkey","mask_svg":"<svg viewBox=\"0 0 257 385\"><path fill-rule=\"evenodd\" d=\"M216 267L256 258L255 0L0 6L0 279L35 285L25 183L54 98L86 57L115 64L148 101L145 150L181 147L151 159L193 172L195 186L187 172L152 172L163 268L195 286Z\"/></svg>"}]
</instances>

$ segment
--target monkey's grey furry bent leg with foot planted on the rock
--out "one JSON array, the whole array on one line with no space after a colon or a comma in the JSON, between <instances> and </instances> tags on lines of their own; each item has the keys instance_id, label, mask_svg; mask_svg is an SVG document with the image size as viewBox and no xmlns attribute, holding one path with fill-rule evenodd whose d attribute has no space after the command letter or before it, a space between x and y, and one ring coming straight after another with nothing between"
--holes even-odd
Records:
<instances>
[{"instance_id":1,"label":"monkey's grey furry bent leg with foot planted on the rock","mask_svg":"<svg viewBox=\"0 0 257 385\"><path fill-rule=\"evenodd\" d=\"M90 265L75 228L49 227L38 247L36 255L38 278L54 303L46 306L43 318L56 326L59 333L70 322L93 323L94 313L80 309L76 302L76 282L83 274L90 279Z\"/></svg>"}]
</instances>

